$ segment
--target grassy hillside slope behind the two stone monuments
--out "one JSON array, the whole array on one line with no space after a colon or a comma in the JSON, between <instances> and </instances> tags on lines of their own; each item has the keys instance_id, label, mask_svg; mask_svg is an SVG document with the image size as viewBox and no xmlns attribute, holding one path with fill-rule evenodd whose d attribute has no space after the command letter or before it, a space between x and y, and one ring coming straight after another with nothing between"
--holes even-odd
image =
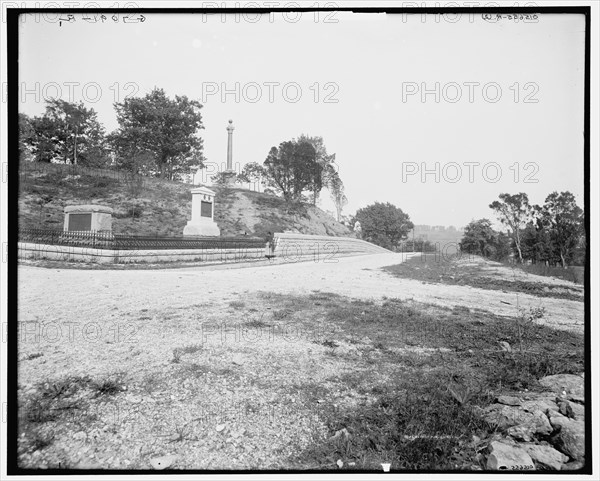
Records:
<instances>
[{"instance_id":1,"label":"grassy hillside slope behind the two stone monuments","mask_svg":"<svg viewBox=\"0 0 600 481\"><path fill-rule=\"evenodd\" d=\"M75 172L75 175L73 175ZM190 184L155 178L136 182L109 171L46 166L21 169L20 228L63 228L63 209L74 204L112 207L113 232L119 234L182 235L191 218ZM215 221L223 236L264 236L268 231L353 236L344 225L309 204L288 204L270 194L238 188L216 191Z\"/></svg>"}]
</instances>

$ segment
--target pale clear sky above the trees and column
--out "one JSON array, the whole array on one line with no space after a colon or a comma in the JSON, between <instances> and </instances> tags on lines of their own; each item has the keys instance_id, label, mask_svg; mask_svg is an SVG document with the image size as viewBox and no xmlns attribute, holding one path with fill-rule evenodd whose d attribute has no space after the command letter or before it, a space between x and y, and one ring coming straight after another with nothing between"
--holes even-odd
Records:
<instances>
[{"instance_id":1,"label":"pale clear sky above the trees and column","mask_svg":"<svg viewBox=\"0 0 600 481\"><path fill-rule=\"evenodd\" d=\"M150 14L89 23L22 18L20 110L83 101L107 131L115 101L154 87L203 104L207 171L321 136L336 154L344 213L390 202L415 224L462 227L502 192L583 206L585 23L481 15L312 12ZM198 175L198 181L208 181ZM333 210L327 193L322 208Z\"/></svg>"}]
</instances>

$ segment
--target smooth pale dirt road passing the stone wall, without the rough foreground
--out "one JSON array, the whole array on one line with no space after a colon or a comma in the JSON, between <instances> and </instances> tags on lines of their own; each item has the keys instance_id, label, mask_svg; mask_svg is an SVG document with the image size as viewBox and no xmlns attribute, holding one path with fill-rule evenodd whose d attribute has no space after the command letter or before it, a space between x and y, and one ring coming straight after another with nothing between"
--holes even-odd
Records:
<instances>
[{"instance_id":1,"label":"smooth pale dirt road passing the stone wall, without the rough foreground","mask_svg":"<svg viewBox=\"0 0 600 481\"><path fill-rule=\"evenodd\" d=\"M239 295L258 291L303 294L320 290L360 299L380 300L386 296L442 306L462 305L506 316L516 316L518 307L528 309L543 305L546 316L541 322L559 329L583 329L581 302L466 286L425 284L396 278L380 270L401 263L410 255L344 257L336 259L336 263L148 271L22 266L19 268L19 320L101 320L107 313L114 316L115 308L126 312L162 306L183 307L207 301L225 304ZM537 276L529 277L534 281Z\"/></svg>"}]
</instances>

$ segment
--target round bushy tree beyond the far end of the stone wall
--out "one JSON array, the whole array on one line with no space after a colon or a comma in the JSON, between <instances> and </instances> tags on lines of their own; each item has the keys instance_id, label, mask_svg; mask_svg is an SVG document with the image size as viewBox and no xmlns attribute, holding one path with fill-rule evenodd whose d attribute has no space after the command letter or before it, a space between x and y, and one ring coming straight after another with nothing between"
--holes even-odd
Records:
<instances>
[{"instance_id":1,"label":"round bushy tree beyond the far end of the stone wall","mask_svg":"<svg viewBox=\"0 0 600 481\"><path fill-rule=\"evenodd\" d=\"M356 212L362 238L386 249L398 247L414 227L408 214L389 202L375 202Z\"/></svg>"}]
</instances>

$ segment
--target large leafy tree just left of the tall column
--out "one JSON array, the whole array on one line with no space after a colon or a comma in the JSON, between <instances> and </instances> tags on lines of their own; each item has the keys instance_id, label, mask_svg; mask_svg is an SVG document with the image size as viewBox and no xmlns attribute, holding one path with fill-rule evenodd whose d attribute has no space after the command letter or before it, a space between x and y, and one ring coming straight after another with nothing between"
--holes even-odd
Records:
<instances>
[{"instance_id":1,"label":"large leafy tree just left of the tall column","mask_svg":"<svg viewBox=\"0 0 600 481\"><path fill-rule=\"evenodd\" d=\"M202 105L184 96L167 97L154 89L145 97L115 103L119 128L111 135L118 163L128 166L131 156L150 154L143 165L146 174L181 179L204 165Z\"/></svg>"}]
</instances>

